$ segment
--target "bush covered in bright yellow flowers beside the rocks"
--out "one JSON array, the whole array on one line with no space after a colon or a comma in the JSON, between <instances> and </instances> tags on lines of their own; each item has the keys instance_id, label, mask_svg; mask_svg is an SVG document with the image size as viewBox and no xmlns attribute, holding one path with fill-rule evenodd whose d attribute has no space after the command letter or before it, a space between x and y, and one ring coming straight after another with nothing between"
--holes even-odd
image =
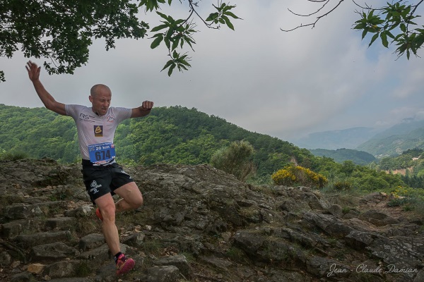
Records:
<instances>
[{"instance_id":1,"label":"bush covered in bright yellow flowers beside the rocks","mask_svg":"<svg viewBox=\"0 0 424 282\"><path fill-rule=\"evenodd\" d=\"M294 165L285 166L285 168L273 173L271 178L276 185L300 184L322 188L328 183L328 180L319 173L314 173L309 168Z\"/></svg>"}]
</instances>

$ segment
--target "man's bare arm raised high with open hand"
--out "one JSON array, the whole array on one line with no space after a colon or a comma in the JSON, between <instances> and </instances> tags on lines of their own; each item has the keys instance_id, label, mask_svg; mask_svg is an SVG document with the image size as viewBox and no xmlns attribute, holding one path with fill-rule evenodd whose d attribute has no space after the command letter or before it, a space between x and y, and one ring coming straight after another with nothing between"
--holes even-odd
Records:
<instances>
[{"instance_id":1,"label":"man's bare arm raised high with open hand","mask_svg":"<svg viewBox=\"0 0 424 282\"><path fill-rule=\"evenodd\" d=\"M33 82L35 92L37 92L38 97L40 97L42 104L44 104L47 109L66 116L65 104L57 102L40 82L41 67L38 67L37 64L32 61L28 61L25 68L28 71L28 76Z\"/></svg>"}]
</instances>

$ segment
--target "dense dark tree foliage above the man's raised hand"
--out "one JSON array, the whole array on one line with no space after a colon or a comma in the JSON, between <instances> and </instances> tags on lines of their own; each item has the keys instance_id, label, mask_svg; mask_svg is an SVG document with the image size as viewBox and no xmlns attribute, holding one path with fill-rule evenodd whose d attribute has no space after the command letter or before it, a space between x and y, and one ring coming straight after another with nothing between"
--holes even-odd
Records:
<instances>
[{"instance_id":1,"label":"dense dark tree foliage above the man's raised hand","mask_svg":"<svg viewBox=\"0 0 424 282\"><path fill-rule=\"evenodd\" d=\"M138 7L129 0L2 1L0 56L11 58L19 47L26 57L45 57L49 74L73 73L88 61L93 38L104 38L106 49L115 39L146 35Z\"/></svg>"}]
</instances>

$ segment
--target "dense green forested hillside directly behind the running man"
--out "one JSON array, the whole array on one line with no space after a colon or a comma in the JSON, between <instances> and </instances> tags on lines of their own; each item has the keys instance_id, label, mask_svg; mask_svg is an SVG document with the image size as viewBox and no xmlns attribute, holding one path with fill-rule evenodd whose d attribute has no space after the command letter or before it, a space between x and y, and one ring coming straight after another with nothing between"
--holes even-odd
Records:
<instances>
[{"instance_id":1,"label":"dense green forested hillside directly behind the running man","mask_svg":"<svg viewBox=\"0 0 424 282\"><path fill-rule=\"evenodd\" d=\"M45 108L20 108L0 104L0 152L24 153L64 163L79 161L73 119ZM115 135L117 157L142 165L208 164L218 149L233 141L248 141L255 149L259 175L269 175L295 159L310 166L307 149L269 135L252 133L223 118L182 106L154 108L145 118L121 123Z\"/></svg>"}]
</instances>

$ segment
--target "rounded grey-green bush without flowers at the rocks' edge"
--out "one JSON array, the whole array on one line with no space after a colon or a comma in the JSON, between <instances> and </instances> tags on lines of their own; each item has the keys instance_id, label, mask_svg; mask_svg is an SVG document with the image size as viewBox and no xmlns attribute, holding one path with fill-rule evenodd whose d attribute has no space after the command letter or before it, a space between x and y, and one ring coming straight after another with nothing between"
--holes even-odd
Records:
<instances>
[{"instance_id":1,"label":"rounded grey-green bush without flowers at the rocks' edge","mask_svg":"<svg viewBox=\"0 0 424 282\"><path fill-rule=\"evenodd\" d=\"M232 142L230 146L219 149L212 155L211 165L244 181L254 173L253 153L254 149L249 142Z\"/></svg>"}]
</instances>

